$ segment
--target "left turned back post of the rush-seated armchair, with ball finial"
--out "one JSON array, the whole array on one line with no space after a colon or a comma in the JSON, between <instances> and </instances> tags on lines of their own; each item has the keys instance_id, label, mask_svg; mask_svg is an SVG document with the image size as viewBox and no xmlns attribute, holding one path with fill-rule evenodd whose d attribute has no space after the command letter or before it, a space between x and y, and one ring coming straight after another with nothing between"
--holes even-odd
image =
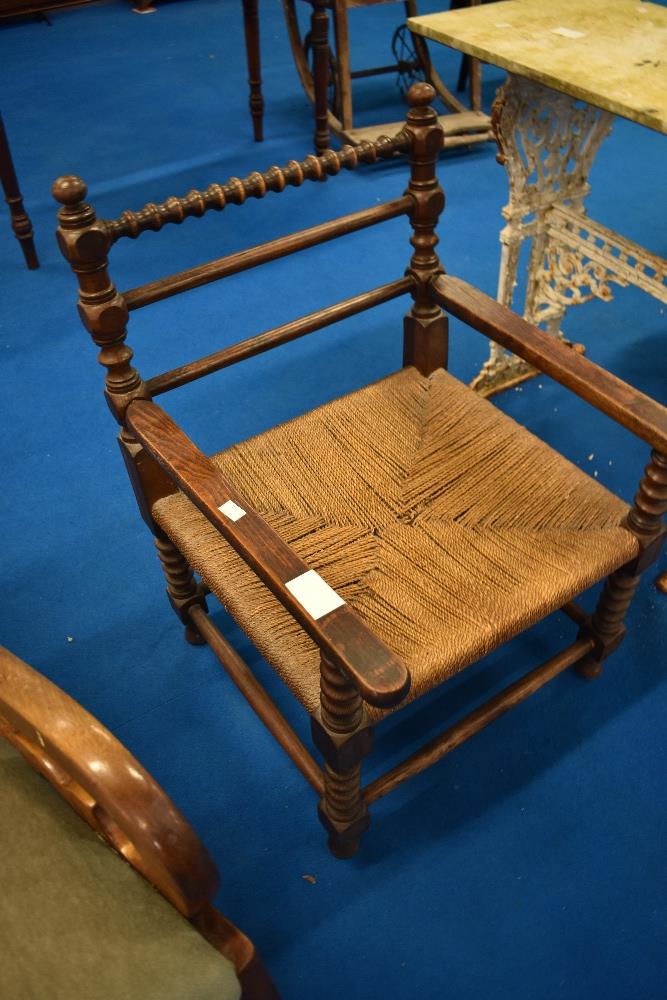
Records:
<instances>
[{"instance_id":1,"label":"left turned back post of the rush-seated armchair, with ball finial","mask_svg":"<svg viewBox=\"0 0 667 1000\"><path fill-rule=\"evenodd\" d=\"M133 352L126 344L128 310L109 277L109 237L94 209L85 201L88 189L80 177L59 177L53 196L58 212L58 246L79 282L79 316L100 348L98 361L107 370L105 396L119 424L133 399L150 399L139 372L132 367Z\"/></svg>"}]
</instances>

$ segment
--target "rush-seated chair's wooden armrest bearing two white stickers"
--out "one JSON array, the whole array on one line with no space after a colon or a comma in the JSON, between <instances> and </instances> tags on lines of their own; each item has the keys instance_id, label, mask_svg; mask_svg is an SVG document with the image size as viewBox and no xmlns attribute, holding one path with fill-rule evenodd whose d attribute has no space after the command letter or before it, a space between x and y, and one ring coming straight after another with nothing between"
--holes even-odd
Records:
<instances>
[{"instance_id":1,"label":"rush-seated chair's wooden armrest bearing two white stickers","mask_svg":"<svg viewBox=\"0 0 667 1000\"><path fill-rule=\"evenodd\" d=\"M311 613L304 607L289 585L309 572L307 564L171 417L155 403L137 399L128 407L125 419L129 430L147 452L254 570L322 652L346 673L361 696L371 705L388 706L401 701L410 687L410 674L404 664L342 601L338 607L322 614L315 609ZM244 512L238 520L231 520L220 510L229 501ZM319 578L314 576L317 583Z\"/></svg>"}]
</instances>

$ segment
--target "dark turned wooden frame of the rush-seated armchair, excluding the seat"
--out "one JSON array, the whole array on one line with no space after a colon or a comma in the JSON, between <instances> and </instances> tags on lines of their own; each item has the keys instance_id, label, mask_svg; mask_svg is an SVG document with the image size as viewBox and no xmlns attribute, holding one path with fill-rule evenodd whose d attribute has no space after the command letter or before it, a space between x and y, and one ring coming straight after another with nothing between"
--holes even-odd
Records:
<instances>
[{"instance_id":1,"label":"dark turned wooden frame of the rush-seated armchair, excluding the seat","mask_svg":"<svg viewBox=\"0 0 667 1000\"><path fill-rule=\"evenodd\" d=\"M444 273L435 251L438 242L435 227L444 195L435 172L443 136L437 115L429 106L434 97L430 85L414 85L409 93L407 123L393 138L382 137L354 148L344 147L339 152L328 150L301 163L292 161L283 169L272 167L264 174L250 174L245 180L233 178L223 185L213 184L203 192L193 191L185 198L169 198L160 205L146 205L139 212L123 212L112 220L96 218L85 201L86 186L79 178L63 177L54 185L55 197L62 205L60 247L79 281L81 318L100 347L99 360L107 369L107 402L121 427L120 446L139 508L157 540L169 599L185 624L190 641L205 641L210 645L320 797L320 817L328 830L331 850L338 857L355 852L359 836L369 822L368 806L400 781L439 760L568 667L576 664L583 676L597 676L603 660L623 637L623 619L640 574L657 557L665 535L662 516L667 510L667 408L466 282ZM118 292L109 278L107 252L118 239L134 238L146 230L158 230L168 222L180 223L187 216L202 215L210 209L221 210L230 202L242 204L248 197L261 198L267 191L280 192L288 184L298 186L304 180L321 180L327 174L337 174L341 168L353 169L360 163L372 163L396 152L406 153L410 163L410 181L400 198L126 292ZM413 254L403 277L147 381L132 367L125 328L133 310L401 214L408 216L413 231L410 241ZM653 451L627 517L626 526L636 536L640 555L607 579L592 616L574 603L563 608L578 625L576 639L383 777L362 788L361 761L372 742L364 702L381 707L398 704L410 685L406 667L348 605L317 620L311 618L286 587L286 581L307 571L308 566L153 399L209 372L408 292L413 302L404 321L404 364L414 365L423 375L446 366L444 307L628 428ZM324 758L323 768L210 620L205 595L190 567L154 523L153 503L177 488L190 498L319 647L321 705L312 716L312 734ZM235 522L228 520L219 509L228 500L242 506L246 516Z\"/></svg>"}]
</instances>

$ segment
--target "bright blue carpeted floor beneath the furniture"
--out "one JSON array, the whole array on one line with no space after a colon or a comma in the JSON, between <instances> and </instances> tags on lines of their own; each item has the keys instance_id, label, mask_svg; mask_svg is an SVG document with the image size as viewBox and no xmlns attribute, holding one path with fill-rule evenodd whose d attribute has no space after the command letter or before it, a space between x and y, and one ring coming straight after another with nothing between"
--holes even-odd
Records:
<instances>
[{"instance_id":1,"label":"bright blue carpeted floor beneath the furniture","mask_svg":"<svg viewBox=\"0 0 667 1000\"><path fill-rule=\"evenodd\" d=\"M0 28L2 111L41 270L0 219L4 534L0 642L98 715L192 820L223 874L220 907L257 942L285 1000L661 1000L667 982L665 635L648 574L625 645L595 684L561 676L373 811L353 861L327 853L314 798L208 649L187 646L164 598L101 396L102 370L53 238L50 183L87 179L101 215L310 152L312 118L280 5L263 8L266 141L251 140L240 4L172 0L63 11ZM305 5L304 5L305 6ZM442 0L423 3L424 11ZM398 5L353 14L353 59L387 60ZM366 28L368 30L366 30ZM364 42L366 39L366 42ZM362 51L366 47L366 51ZM456 58L435 53L453 83ZM502 74L485 70L490 101ZM359 119L403 114L391 77L360 83ZM617 122L589 210L667 255L664 137ZM494 149L441 161L448 270L495 291L506 181ZM400 193L393 162L121 241L120 288ZM400 276L405 220L135 313L150 376ZM400 364L403 302L178 390L165 404L218 449ZM634 290L572 310L589 357L667 402L664 308ZM453 324L469 379L482 337ZM549 379L499 405L631 499L648 449ZM667 568L664 557L660 569ZM594 595L588 595L590 607ZM307 738L307 719L221 612L217 618ZM560 616L393 718L367 768L562 646ZM0 859L0 878L2 861ZM304 876L312 876L305 879ZM1 992L1 991L0 991Z\"/></svg>"}]
</instances>

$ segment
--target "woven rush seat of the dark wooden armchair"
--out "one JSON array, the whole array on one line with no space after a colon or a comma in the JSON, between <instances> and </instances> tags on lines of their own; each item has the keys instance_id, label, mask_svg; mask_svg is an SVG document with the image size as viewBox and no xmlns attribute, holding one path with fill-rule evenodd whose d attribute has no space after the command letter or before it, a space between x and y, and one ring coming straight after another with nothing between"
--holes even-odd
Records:
<instances>
[{"instance_id":1,"label":"woven rush seat of the dark wooden armchair","mask_svg":"<svg viewBox=\"0 0 667 1000\"><path fill-rule=\"evenodd\" d=\"M638 552L626 504L444 370L405 368L213 462L403 659L406 701ZM312 640L182 493L153 516L315 712Z\"/></svg>"}]
</instances>

